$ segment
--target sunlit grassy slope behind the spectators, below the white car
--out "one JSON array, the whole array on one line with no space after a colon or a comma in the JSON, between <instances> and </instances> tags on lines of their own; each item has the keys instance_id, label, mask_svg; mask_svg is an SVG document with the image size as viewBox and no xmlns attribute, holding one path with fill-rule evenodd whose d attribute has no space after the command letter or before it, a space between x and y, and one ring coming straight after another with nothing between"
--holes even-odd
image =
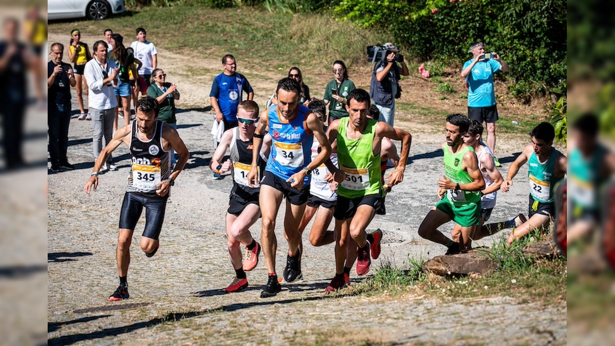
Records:
<instances>
[{"instance_id":1,"label":"sunlit grassy slope behind the spectators, below the white car","mask_svg":"<svg viewBox=\"0 0 615 346\"><path fill-rule=\"evenodd\" d=\"M66 34L68 41L73 28L100 38L105 28L113 28L131 42L138 26L148 30L154 44L173 52L216 60L230 53L242 66L276 73L292 65L329 68L338 59L349 67L367 64L365 47L386 40L386 33L354 28L327 14L287 14L253 7L145 7L102 21L50 22L49 31Z\"/></svg>"}]
</instances>

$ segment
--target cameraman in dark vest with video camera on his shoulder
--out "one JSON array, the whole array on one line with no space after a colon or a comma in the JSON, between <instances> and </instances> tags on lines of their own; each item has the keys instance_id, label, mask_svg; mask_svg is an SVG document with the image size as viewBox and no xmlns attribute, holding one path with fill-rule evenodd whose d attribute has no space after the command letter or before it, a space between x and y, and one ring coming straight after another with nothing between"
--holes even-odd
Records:
<instances>
[{"instance_id":1,"label":"cameraman in dark vest with video camera on his shoulder","mask_svg":"<svg viewBox=\"0 0 615 346\"><path fill-rule=\"evenodd\" d=\"M380 111L380 121L393 126L395 113L395 99L402 95L402 88L398 81L401 76L408 76L408 66L403 61L403 55L392 43L383 46L386 49L383 59L376 62L371 73L370 97ZM400 68L397 63L401 63Z\"/></svg>"}]
</instances>

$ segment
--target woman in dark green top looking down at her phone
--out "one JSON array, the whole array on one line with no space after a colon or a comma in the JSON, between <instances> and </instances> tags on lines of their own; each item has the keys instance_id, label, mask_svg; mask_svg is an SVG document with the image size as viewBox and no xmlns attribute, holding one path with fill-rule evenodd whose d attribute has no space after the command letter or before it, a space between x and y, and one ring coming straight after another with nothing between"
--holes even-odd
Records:
<instances>
[{"instance_id":1,"label":"woman in dark green top looking down at her phone","mask_svg":"<svg viewBox=\"0 0 615 346\"><path fill-rule=\"evenodd\" d=\"M335 78L325 87L325 97L323 97L325 105L329 106L328 124L331 124L335 119L348 116L348 111L346 111L348 100L346 97L356 89L354 82L348 79L348 70L343 61L336 60L333 63L333 76Z\"/></svg>"}]
</instances>

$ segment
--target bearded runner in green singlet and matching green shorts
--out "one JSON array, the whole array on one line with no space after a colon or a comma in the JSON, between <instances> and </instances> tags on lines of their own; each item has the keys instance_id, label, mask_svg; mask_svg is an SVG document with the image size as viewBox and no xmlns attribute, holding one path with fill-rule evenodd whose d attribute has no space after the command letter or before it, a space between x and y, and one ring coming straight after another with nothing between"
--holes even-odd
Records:
<instances>
[{"instance_id":1,"label":"bearded runner in green singlet and matching green shorts","mask_svg":"<svg viewBox=\"0 0 615 346\"><path fill-rule=\"evenodd\" d=\"M474 148L462 139L469 126L467 116L451 114L446 118L446 142L442 143L445 174L438 180L446 196L427 213L419 227L420 236L448 247L447 255L469 249L470 236L480 225L480 191L485 188L485 179ZM461 225L459 243L437 229L450 220Z\"/></svg>"}]
</instances>

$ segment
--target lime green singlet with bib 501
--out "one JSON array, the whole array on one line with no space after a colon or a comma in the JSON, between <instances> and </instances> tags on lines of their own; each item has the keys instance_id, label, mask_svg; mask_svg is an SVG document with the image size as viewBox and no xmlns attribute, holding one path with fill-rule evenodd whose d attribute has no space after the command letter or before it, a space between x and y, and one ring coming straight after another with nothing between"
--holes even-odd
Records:
<instances>
[{"instance_id":1,"label":"lime green singlet with bib 501","mask_svg":"<svg viewBox=\"0 0 615 346\"><path fill-rule=\"evenodd\" d=\"M380 153L374 155L373 143L378 121L370 119L359 139L348 139L349 117L339 119L338 164L346 179L338 185L338 195L359 198L381 192Z\"/></svg>"}]
</instances>

